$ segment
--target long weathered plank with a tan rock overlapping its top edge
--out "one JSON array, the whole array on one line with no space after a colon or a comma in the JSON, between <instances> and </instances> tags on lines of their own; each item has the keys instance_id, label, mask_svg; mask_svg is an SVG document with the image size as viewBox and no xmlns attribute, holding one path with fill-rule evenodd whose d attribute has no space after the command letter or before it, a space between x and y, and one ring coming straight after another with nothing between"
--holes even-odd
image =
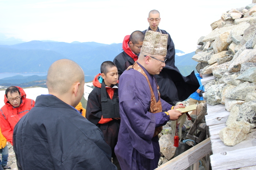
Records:
<instances>
[{"instance_id":1,"label":"long weathered plank with a tan rock overlapping its top edge","mask_svg":"<svg viewBox=\"0 0 256 170\"><path fill-rule=\"evenodd\" d=\"M256 146L256 129L253 129L251 133L246 135L246 139L236 144L235 146L226 146L221 139L211 139L211 147L213 154L233 151L242 148L248 148Z\"/></svg>"}]
</instances>

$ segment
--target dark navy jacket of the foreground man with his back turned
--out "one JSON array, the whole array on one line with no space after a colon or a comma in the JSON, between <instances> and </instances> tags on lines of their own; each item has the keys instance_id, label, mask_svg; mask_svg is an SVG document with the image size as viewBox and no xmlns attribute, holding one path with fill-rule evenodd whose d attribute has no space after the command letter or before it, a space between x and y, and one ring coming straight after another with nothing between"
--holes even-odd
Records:
<instances>
[{"instance_id":1,"label":"dark navy jacket of the foreground man with his back turned","mask_svg":"<svg viewBox=\"0 0 256 170\"><path fill-rule=\"evenodd\" d=\"M52 95L37 97L13 142L19 170L116 169L99 128Z\"/></svg>"}]
</instances>

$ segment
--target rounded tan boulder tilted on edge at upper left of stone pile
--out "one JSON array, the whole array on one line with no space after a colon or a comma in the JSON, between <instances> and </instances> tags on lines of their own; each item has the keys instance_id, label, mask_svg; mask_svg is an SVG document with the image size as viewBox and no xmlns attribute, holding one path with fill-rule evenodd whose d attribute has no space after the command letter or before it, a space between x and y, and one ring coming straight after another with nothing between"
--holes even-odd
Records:
<instances>
[{"instance_id":1,"label":"rounded tan boulder tilted on edge at upper left of stone pile","mask_svg":"<svg viewBox=\"0 0 256 170\"><path fill-rule=\"evenodd\" d=\"M227 43L229 34L230 32L223 32L215 39L213 44L213 50L215 54L227 49L227 46L229 46L229 43Z\"/></svg>"}]
</instances>

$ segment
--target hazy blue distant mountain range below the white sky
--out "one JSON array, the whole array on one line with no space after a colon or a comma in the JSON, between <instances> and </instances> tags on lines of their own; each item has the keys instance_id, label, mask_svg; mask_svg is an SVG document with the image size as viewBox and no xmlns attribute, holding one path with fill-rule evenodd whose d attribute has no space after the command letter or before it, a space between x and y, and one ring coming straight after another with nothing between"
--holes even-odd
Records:
<instances>
[{"instance_id":1,"label":"hazy blue distant mountain range below the white sky","mask_svg":"<svg viewBox=\"0 0 256 170\"><path fill-rule=\"evenodd\" d=\"M76 41L65 43L33 40L15 45L0 45L0 73L48 72L49 66L54 61L67 58L82 67L87 75L85 76L86 82L88 82L93 80L93 77L99 73L102 62L113 61L114 57L121 52L122 43L108 45L97 42L81 43ZM176 50L176 53L182 54L184 52ZM197 62L191 59L194 54L195 52L175 56L175 65L184 76L195 70ZM14 76L11 79L1 79L0 85L3 83L21 84L45 78L44 76L22 77Z\"/></svg>"}]
</instances>

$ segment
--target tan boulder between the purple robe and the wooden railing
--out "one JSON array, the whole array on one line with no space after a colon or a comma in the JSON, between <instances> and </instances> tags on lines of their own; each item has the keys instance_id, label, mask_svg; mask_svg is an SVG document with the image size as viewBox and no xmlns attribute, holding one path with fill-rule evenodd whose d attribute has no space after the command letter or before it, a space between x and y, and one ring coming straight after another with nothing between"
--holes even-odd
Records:
<instances>
[{"instance_id":1,"label":"tan boulder between the purple robe and the wooden railing","mask_svg":"<svg viewBox=\"0 0 256 170\"><path fill-rule=\"evenodd\" d=\"M167 159L171 159L175 153L176 147L173 144L174 138L171 134L163 135L159 139L160 151Z\"/></svg>"}]
</instances>

